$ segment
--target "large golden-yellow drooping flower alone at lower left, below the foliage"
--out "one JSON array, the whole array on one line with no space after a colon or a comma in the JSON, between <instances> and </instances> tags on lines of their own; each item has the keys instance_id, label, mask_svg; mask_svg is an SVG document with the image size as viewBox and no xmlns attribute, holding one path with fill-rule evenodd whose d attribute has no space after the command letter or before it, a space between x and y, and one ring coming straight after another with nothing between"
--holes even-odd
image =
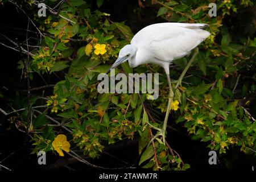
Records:
<instances>
[{"instance_id":1,"label":"large golden-yellow drooping flower alone at lower left, below the foliage","mask_svg":"<svg viewBox=\"0 0 256 182\"><path fill-rule=\"evenodd\" d=\"M60 156L64 156L63 151L69 152L70 144L67 141L67 137L63 134L57 135L52 142L54 150L56 150Z\"/></svg>"}]
</instances>

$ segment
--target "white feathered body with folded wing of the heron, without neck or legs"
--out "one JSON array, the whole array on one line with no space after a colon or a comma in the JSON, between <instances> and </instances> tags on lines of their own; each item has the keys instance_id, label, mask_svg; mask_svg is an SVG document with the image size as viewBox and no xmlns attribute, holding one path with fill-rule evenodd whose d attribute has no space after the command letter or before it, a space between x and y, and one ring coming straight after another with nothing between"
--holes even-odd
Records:
<instances>
[{"instance_id":1,"label":"white feathered body with folded wing of the heron, without neck or legs","mask_svg":"<svg viewBox=\"0 0 256 182\"><path fill-rule=\"evenodd\" d=\"M187 55L210 33L200 23L158 23L139 31L131 40L138 48L147 49L159 60L172 61Z\"/></svg>"}]
</instances>

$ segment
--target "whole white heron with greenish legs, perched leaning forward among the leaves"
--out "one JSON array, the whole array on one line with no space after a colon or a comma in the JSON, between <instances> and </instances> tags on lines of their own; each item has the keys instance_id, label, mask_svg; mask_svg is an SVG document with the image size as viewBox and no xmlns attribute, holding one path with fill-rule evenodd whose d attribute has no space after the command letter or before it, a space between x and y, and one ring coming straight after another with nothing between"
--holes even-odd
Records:
<instances>
[{"instance_id":1,"label":"whole white heron with greenish legs, perched leaning forward among the leaves","mask_svg":"<svg viewBox=\"0 0 256 182\"><path fill-rule=\"evenodd\" d=\"M168 115L170 113L171 102L174 97L170 80L169 65L173 60L188 55L193 48L196 48L201 42L203 42L204 39L208 38L210 33L202 30L202 28L207 26L208 24L203 23L151 24L134 35L133 39L131 40L131 44L126 45L120 50L118 59L115 61L112 67L110 67L110 69L113 69L119 64L128 61L131 68L135 68L138 65L147 63L157 64L164 68L170 88L169 101L162 129L158 129L157 127L154 127L148 123L148 125L150 125L152 128L159 131L155 137L152 138L152 140L154 140L156 137L162 136L163 143L165 144ZM197 53L198 48L195 49L195 53L193 53L191 60L189 60L187 66L177 80L175 89L181 84L181 80L183 79L192 61L195 59Z\"/></svg>"}]
</instances>

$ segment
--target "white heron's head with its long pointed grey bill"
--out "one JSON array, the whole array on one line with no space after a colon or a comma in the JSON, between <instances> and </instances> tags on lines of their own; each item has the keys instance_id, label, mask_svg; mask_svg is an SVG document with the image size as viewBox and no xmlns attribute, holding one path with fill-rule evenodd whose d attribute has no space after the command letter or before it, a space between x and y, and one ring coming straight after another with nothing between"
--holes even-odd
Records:
<instances>
[{"instance_id":1,"label":"white heron's head with its long pointed grey bill","mask_svg":"<svg viewBox=\"0 0 256 182\"><path fill-rule=\"evenodd\" d=\"M110 69L114 69L115 67L117 67L119 64L125 63L127 60L131 60L131 57L133 57L134 55L136 55L137 52L137 48L132 46L131 44L126 45L125 47L123 47L118 55L117 60L115 61L115 63L109 68L109 71L106 72L106 74L108 74L110 72Z\"/></svg>"}]
</instances>

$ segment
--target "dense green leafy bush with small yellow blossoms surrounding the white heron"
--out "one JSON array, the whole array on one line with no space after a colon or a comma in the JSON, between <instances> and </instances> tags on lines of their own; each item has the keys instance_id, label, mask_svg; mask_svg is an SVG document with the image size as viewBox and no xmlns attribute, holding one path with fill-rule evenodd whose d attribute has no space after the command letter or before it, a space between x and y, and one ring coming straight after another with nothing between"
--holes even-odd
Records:
<instances>
[{"instance_id":1,"label":"dense green leafy bush with small yellow blossoms surrounding the white heron","mask_svg":"<svg viewBox=\"0 0 256 182\"><path fill-rule=\"evenodd\" d=\"M48 1L46 1L48 2ZM224 154L234 146L242 152L255 150L256 122L246 112L243 97L253 93L255 86L255 22L254 27L243 34L233 31L225 18L236 16L243 8L253 6L249 0L241 5L235 1L216 1L217 17L208 16L211 1L151 1L145 6L158 9L156 16L171 22L208 23L211 35L200 47L189 77L183 86L175 90L174 100L179 101L179 109L171 111L177 125L187 128L194 140L208 144L211 150ZM52 3L52 2L51 2ZM97 6L108 3L97 0ZM139 165L143 168L162 170L186 170L189 164L183 163L171 147L154 137L152 126L160 126L147 114L144 103L165 112L168 102L168 85L165 75L160 76L160 97L147 101L146 94L99 94L97 76L104 73L117 58L119 49L128 44L133 33L125 22L112 22L111 16L94 10L85 1L68 1L61 7L61 16L50 15L40 30L47 33L42 47L34 50L29 67L31 74L47 75L65 72L65 79L56 83L52 96L48 96L47 110L34 119L32 141L35 148L51 151L51 143L59 126L47 126L46 114L59 118L61 126L72 130L69 139L72 147L78 147L90 158L97 158L104 147L125 138L133 139L139 133ZM40 21L38 20L40 23ZM154 23L154 22L152 22ZM246 26L249 26L246 24ZM246 27L248 28L248 27ZM100 45L101 48L98 48ZM188 63L189 57L175 60L177 68L171 70L171 78L179 77ZM20 62L20 66L23 63ZM123 64L116 72L150 72L147 65L131 69ZM152 66L154 72L162 69ZM252 82L242 81L238 75L252 72ZM33 72L33 73L32 73ZM238 81L238 85L236 82ZM1 95L0 95L1 96ZM23 119L26 123L26 119ZM171 119L169 121L173 122ZM66 133L67 130L62 130ZM154 145L154 146L153 146Z\"/></svg>"}]
</instances>

